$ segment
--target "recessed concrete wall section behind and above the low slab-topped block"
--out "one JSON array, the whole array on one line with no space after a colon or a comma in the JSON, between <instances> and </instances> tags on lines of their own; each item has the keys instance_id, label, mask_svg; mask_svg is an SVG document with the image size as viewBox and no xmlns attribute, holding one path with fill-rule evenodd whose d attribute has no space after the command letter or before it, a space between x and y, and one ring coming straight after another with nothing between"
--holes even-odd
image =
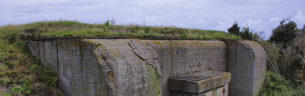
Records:
<instances>
[{"instance_id":1,"label":"recessed concrete wall section behind and above the low slab-topped block","mask_svg":"<svg viewBox=\"0 0 305 96\"><path fill-rule=\"evenodd\" d=\"M162 95L168 95L167 78L182 73L224 71L226 44L222 41L144 40L155 49L162 74ZM164 79L163 79L164 78Z\"/></svg>"}]
</instances>

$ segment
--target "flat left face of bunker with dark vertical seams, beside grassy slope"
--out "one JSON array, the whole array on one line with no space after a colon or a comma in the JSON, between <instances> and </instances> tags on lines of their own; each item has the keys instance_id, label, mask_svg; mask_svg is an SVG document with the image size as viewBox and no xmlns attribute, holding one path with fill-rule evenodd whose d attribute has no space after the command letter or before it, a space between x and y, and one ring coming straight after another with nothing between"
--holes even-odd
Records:
<instances>
[{"instance_id":1,"label":"flat left face of bunker with dark vertical seams, beside grassy slope","mask_svg":"<svg viewBox=\"0 0 305 96\"><path fill-rule=\"evenodd\" d=\"M66 95L108 95L106 78L91 43L73 39L27 44L42 65L48 64L54 69Z\"/></svg>"}]
</instances>

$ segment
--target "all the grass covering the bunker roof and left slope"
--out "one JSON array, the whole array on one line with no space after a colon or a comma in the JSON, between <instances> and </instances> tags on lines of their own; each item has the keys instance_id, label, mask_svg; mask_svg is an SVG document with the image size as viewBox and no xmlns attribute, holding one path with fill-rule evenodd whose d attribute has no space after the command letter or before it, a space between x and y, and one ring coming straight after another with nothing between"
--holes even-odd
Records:
<instances>
[{"instance_id":1,"label":"all the grass covering the bunker roof and left slope","mask_svg":"<svg viewBox=\"0 0 305 96\"><path fill-rule=\"evenodd\" d=\"M52 69L39 65L24 40L66 36L188 37L241 39L216 30L151 27L138 24L87 24L77 21L42 21L0 27L0 96L63 95Z\"/></svg>"}]
</instances>

